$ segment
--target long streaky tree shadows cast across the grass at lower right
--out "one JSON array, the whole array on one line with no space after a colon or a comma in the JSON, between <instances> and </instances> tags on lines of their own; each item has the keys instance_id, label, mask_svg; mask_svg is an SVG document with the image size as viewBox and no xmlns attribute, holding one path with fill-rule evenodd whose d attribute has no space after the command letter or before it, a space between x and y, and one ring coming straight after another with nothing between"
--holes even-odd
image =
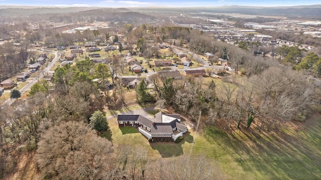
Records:
<instances>
[{"instance_id":1,"label":"long streaky tree shadows cast across the grass at lower right","mask_svg":"<svg viewBox=\"0 0 321 180\"><path fill-rule=\"evenodd\" d=\"M205 129L211 143L220 145L226 154L252 177L263 179L320 179L321 123L295 132L253 132L245 129L226 134L215 127ZM224 134L225 133L225 134ZM239 136L239 135L240 136ZM250 177L249 177L250 178Z\"/></svg>"}]
</instances>

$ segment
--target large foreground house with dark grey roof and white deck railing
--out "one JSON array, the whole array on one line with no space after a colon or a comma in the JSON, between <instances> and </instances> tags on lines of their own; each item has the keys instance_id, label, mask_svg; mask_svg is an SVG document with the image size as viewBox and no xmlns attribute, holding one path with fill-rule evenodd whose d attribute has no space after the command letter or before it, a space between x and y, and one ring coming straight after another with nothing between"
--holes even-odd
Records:
<instances>
[{"instance_id":1,"label":"large foreground house with dark grey roof and white deck railing","mask_svg":"<svg viewBox=\"0 0 321 180\"><path fill-rule=\"evenodd\" d=\"M134 126L147 138L170 138L176 140L187 132L187 127L181 123L180 114L165 114L158 112L155 119L148 119L142 115L117 116L119 127Z\"/></svg>"}]
</instances>

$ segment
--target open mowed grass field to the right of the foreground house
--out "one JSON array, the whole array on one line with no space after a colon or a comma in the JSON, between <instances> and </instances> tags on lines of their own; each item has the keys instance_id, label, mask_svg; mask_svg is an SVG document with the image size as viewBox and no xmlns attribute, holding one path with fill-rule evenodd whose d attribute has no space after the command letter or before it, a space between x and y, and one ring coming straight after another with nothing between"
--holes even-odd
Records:
<instances>
[{"instance_id":1,"label":"open mowed grass field to the right of the foreground house","mask_svg":"<svg viewBox=\"0 0 321 180\"><path fill-rule=\"evenodd\" d=\"M217 160L230 179L321 179L321 118L298 132L227 134L214 126L195 139L193 153Z\"/></svg>"}]
</instances>

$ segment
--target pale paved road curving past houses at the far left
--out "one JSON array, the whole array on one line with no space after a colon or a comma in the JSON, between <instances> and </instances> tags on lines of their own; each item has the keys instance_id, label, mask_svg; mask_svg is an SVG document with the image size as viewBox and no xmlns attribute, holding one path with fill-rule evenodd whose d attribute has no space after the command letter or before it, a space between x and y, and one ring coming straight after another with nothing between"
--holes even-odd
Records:
<instances>
[{"instance_id":1,"label":"pale paved road curving past houses at the far left","mask_svg":"<svg viewBox=\"0 0 321 180\"><path fill-rule=\"evenodd\" d=\"M37 78L32 78L31 80L28 80L29 83L25 85L23 88L20 89L21 93L24 93L26 90L29 90L31 86L33 86L36 82L38 82L37 79L40 79L44 76L44 73L51 72L50 69L55 65L56 61L58 60L59 56L57 55L57 51L50 51L51 53L55 54L55 58L50 62L50 64L43 70L43 73L39 73ZM11 105L16 99L9 98L7 99L2 105L1 108L6 107L8 105Z\"/></svg>"}]
</instances>

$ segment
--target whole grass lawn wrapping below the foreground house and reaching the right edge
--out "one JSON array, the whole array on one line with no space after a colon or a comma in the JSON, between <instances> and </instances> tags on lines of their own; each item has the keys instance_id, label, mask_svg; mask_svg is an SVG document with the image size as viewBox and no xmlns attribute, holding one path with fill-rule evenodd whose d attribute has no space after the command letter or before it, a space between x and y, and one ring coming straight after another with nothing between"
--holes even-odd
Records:
<instances>
[{"instance_id":1,"label":"whole grass lawn wrapping below the foreground house and reaching the right edge","mask_svg":"<svg viewBox=\"0 0 321 180\"><path fill-rule=\"evenodd\" d=\"M321 118L310 124L282 128L276 132L245 130L226 133L215 126L193 129L180 143L148 142L135 127L119 128L116 118L109 120L114 144L141 144L153 158L205 154L218 162L227 179L321 179Z\"/></svg>"}]
</instances>

